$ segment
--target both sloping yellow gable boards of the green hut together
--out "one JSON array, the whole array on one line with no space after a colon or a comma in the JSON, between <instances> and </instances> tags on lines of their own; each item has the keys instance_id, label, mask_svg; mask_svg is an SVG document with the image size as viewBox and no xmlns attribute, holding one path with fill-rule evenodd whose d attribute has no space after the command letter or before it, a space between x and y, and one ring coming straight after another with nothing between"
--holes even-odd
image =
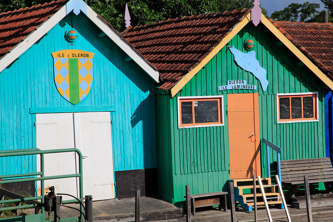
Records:
<instances>
[{"instance_id":1,"label":"both sloping yellow gable boards of the green hut together","mask_svg":"<svg viewBox=\"0 0 333 222\"><path fill-rule=\"evenodd\" d=\"M183 76L171 89L171 97L174 97L191 78L200 71L249 21L251 12L238 23L232 31L190 72ZM318 76L330 89L333 90L333 82L320 69L308 59L293 43L287 39L268 19L261 14L261 23L275 35L299 60L301 60L316 76Z\"/></svg>"}]
</instances>

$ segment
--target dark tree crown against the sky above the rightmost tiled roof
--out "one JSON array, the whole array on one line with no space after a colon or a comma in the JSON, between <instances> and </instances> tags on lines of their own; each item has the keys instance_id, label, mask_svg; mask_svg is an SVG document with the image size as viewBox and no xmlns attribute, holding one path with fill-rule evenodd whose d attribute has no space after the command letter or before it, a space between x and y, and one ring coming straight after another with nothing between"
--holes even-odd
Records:
<instances>
[{"instance_id":1,"label":"dark tree crown against the sky above the rightmost tiled roof","mask_svg":"<svg viewBox=\"0 0 333 222\"><path fill-rule=\"evenodd\" d=\"M304 22L305 19L315 16L318 8L320 8L318 3L291 3L283 10L273 12L271 18L280 21Z\"/></svg>"}]
</instances>

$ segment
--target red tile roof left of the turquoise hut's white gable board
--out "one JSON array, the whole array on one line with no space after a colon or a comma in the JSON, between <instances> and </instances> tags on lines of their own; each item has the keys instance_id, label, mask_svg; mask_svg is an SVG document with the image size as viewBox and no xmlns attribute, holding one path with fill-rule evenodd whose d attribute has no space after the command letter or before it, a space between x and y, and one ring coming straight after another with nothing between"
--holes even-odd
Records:
<instances>
[{"instance_id":1,"label":"red tile roof left of the turquoise hut's white gable board","mask_svg":"<svg viewBox=\"0 0 333 222\"><path fill-rule=\"evenodd\" d=\"M0 58L24 40L68 0L52 1L0 14Z\"/></svg>"}]
</instances>

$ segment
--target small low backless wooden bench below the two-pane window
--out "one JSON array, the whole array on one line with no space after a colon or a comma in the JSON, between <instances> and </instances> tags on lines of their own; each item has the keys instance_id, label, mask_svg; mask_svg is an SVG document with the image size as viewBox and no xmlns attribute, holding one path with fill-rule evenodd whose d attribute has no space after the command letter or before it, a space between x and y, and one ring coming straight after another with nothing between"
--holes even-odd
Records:
<instances>
[{"instance_id":1,"label":"small low backless wooden bench below the two-pane window","mask_svg":"<svg viewBox=\"0 0 333 222\"><path fill-rule=\"evenodd\" d=\"M190 195L192 215L195 216L196 207L218 205L219 210L223 208L224 211L227 211L227 194L228 192L214 192ZM186 196L184 197L186 198Z\"/></svg>"}]
</instances>

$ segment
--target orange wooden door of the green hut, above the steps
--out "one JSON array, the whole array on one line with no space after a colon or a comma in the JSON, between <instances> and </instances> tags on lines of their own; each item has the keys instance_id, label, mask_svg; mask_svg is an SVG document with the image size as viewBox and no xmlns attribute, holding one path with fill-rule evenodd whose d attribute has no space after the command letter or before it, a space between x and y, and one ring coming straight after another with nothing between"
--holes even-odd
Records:
<instances>
[{"instance_id":1,"label":"orange wooden door of the green hut, above the steps","mask_svg":"<svg viewBox=\"0 0 333 222\"><path fill-rule=\"evenodd\" d=\"M228 94L230 179L260 176L258 93Z\"/></svg>"}]
</instances>

